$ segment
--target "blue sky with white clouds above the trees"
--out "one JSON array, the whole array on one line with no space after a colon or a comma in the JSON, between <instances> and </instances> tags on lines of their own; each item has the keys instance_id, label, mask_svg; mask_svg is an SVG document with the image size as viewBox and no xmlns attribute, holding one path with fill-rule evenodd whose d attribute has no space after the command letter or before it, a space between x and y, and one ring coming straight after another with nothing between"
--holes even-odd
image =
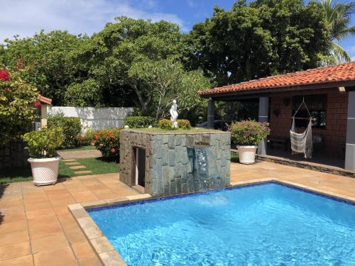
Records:
<instances>
[{"instance_id":1,"label":"blue sky with white clouds above the trees","mask_svg":"<svg viewBox=\"0 0 355 266\"><path fill-rule=\"evenodd\" d=\"M165 19L188 32L194 23L212 15L214 5L229 10L233 3L234 0L0 0L0 43L13 35L29 37L41 29L91 35L116 16ZM354 24L355 16L351 21ZM346 38L340 45L355 60L355 37Z\"/></svg>"}]
</instances>

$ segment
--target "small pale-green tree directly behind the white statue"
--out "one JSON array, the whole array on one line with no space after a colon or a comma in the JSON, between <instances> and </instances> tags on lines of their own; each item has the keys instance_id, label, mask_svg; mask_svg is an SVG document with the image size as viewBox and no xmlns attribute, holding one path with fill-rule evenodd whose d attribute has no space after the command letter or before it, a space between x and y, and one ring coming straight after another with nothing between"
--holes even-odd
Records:
<instances>
[{"instance_id":1,"label":"small pale-green tree directly behind the white statue","mask_svg":"<svg viewBox=\"0 0 355 266\"><path fill-rule=\"evenodd\" d=\"M146 84L148 97L153 99L155 121L168 115L173 99L178 101L180 113L201 106L203 100L197 91L211 87L202 72L185 71L174 57L136 62L129 70L129 76L138 77Z\"/></svg>"}]
</instances>

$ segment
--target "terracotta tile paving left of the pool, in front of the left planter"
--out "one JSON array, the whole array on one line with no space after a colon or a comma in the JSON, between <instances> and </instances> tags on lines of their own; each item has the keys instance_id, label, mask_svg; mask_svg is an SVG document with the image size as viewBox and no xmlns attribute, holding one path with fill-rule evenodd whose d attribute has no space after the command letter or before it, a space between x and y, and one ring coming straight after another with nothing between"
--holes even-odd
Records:
<instances>
[{"instance_id":1,"label":"terracotta tile paving left of the pool, in front of the left planter","mask_svg":"<svg viewBox=\"0 0 355 266\"><path fill-rule=\"evenodd\" d=\"M35 187L0 189L0 265L101 265L67 206L139 194L119 174L97 174Z\"/></svg>"}]
</instances>

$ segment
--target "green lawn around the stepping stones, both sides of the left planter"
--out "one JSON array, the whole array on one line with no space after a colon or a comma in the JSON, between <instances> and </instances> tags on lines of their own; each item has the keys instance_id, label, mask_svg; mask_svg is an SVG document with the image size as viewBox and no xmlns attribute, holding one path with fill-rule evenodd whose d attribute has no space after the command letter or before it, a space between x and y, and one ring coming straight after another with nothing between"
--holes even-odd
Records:
<instances>
[{"instance_id":1,"label":"green lawn around the stepping stones, both sides of the left planter","mask_svg":"<svg viewBox=\"0 0 355 266\"><path fill-rule=\"evenodd\" d=\"M107 174L119 172L119 166L116 162L107 162L102 160L102 158L83 158L76 159L80 162L80 165L84 165L85 169L80 170L90 170L92 174ZM69 168L70 165L65 165L64 162L60 161L58 177L75 177L83 174L75 174L74 171ZM0 172L0 184L13 183L13 182L25 182L32 181L31 169L11 169Z\"/></svg>"}]
</instances>

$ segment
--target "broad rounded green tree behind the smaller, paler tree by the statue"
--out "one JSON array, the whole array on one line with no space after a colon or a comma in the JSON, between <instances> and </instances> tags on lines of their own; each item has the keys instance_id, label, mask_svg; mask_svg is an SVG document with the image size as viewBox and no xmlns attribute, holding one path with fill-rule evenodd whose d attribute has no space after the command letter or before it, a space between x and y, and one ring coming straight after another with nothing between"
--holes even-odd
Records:
<instances>
[{"instance_id":1,"label":"broad rounded green tree behind the smaller, paler tree by the statue","mask_svg":"<svg viewBox=\"0 0 355 266\"><path fill-rule=\"evenodd\" d=\"M89 77L99 82L105 91L120 91L132 95L143 113L148 112L151 94L135 75L132 65L146 60L162 60L178 55L182 45L179 26L167 21L118 17L102 31L92 35L92 41L80 47L75 59L87 64ZM105 92L104 92L105 93Z\"/></svg>"}]
</instances>

